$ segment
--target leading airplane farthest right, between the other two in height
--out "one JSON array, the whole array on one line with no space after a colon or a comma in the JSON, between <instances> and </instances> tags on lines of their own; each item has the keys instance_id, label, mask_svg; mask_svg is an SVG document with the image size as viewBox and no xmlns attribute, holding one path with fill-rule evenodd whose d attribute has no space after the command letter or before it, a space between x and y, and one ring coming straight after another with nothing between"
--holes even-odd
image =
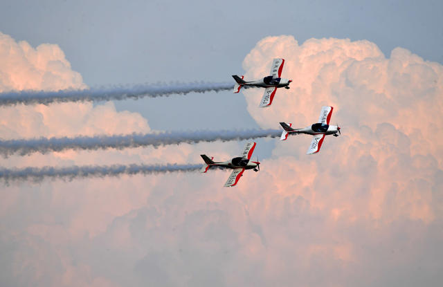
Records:
<instances>
[{"instance_id":1,"label":"leading airplane farthest right, between the other two in height","mask_svg":"<svg viewBox=\"0 0 443 287\"><path fill-rule=\"evenodd\" d=\"M287 140L289 134L306 133L308 135L312 135L314 136L314 138L312 139L311 145L309 146L306 154L318 153L326 135L338 136L337 133L341 134L338 124L336 126L329 125L329 120L331 120L333 109L333 107L328 106L322 107L320 118L318 118L318 123L312 124L311 126L305 127L304 129L293 129L291 128L291 123L287 124L285 122L280 122L281 126L283 127L283 132L280 140Z\"/></svg>"}]
</instances>

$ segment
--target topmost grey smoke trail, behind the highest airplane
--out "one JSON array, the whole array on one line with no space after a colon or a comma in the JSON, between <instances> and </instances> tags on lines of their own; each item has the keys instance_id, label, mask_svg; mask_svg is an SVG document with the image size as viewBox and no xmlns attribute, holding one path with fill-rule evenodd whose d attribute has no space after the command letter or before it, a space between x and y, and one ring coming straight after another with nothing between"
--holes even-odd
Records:
<instances>
[{"instance_id":1,"label":"topmost grey smoke trail, behind the highest airplane","mask_svg":"<svg viewBox=\"0 0 443 287\"><path fill-rule=\"evenodd\" d=\"M0 93L0 106L13 104L49 104L51 102L79 102L102 100L126 100L143 97L162 97L173 94L205 93L233 89L232 83L152 84L118 86L102 89L60 90L60 91L10 91Z\"/></svg>"}]
</instances>

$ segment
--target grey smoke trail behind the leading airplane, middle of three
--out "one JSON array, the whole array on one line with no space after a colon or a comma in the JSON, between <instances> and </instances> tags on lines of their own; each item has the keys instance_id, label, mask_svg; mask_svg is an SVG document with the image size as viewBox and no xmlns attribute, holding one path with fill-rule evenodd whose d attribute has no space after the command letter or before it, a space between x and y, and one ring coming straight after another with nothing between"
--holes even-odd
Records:
<instances>
[{"instance_id":1,"label":"grey smoke trail behind the leading airplane, middle of three","mask_svg":"<svg viewBox=\"0 0 443 287\"><path fill-rule=\"evenodd\" d=\"M215 140L249 140L253 138L280 137L278 129L250 129L237 131L174 131L167 133L133 133L114 136L79 136L76 138L33 138L21 140L0 140L0 154L4 157L18 153L21 156L65 149L96 150L123 149L128 147L145 147L174 145L181 142L213 142Z\"/></svg>"}]
</instances>

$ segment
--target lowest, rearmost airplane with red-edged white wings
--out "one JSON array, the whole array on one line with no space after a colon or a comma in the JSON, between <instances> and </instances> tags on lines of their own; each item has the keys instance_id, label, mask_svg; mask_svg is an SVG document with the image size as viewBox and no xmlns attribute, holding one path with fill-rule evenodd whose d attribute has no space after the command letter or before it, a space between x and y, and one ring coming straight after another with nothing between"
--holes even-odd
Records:
<instances>
[{"instance_id":1,"label":"lowest, rearmost airplane with red-edged white wings","mask_svg":"<svg viewBox=\"0 0 443 287\"><path fill-rule=\"evenodd\" d=\"M201 173L208 172L208 169L217 167L221 169L234 169L230 174L228 180L224 184L225 187L233 187L238 183L238 180L243 176L243 172L245 169L253 169L255 172L260 170L260 163L257 161L250 161L252 153L255 149L255 142L246 143L242 156L237 158L233 158L232 160L224 161L224 162L215 162L213 161L213 157L209 158L206 154L202 154L201 158L205 161L206 165L201 168Z\"/></svg>"}]
</instances>

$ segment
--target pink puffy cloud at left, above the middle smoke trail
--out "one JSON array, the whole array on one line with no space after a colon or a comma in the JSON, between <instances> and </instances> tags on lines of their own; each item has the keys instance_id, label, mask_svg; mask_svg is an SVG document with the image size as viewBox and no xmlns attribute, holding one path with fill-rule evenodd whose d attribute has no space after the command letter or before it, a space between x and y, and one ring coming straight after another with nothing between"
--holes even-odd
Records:
<instances>
[{"instance_id":1,"label":"pink puffy cloud at left, above the middle smoke trail","mask_svg":"<svg viewBox=\"0 0 443 287\"><path fill-rule=\"evenodd\" d=\"M0 33L0 92L17 90L85 89L80 73L72 71L63 51L55 44L33 48ZM118 113L114 104L93 107L82 104L37 104L0 107L2 139L33 136L74 136L96 133L149 131L137 113Z\"/></svg>"}]
</instances>

